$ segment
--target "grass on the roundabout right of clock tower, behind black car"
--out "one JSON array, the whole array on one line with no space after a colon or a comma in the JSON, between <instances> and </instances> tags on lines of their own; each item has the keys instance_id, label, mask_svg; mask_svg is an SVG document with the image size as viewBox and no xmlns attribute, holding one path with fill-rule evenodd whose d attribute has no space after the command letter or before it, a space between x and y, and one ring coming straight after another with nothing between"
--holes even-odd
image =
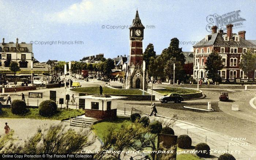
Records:
<instances>
[{"instance_id":1,"label":"grass on the roundabout right of clock tower, behind black car","mask_svg":"<svg viewBox=\"0 0 256 160\"><path fill-rule=\"evenodd\" d=\"M195 89L187 89L187 88L177 88L177 87L165 87L165 89L154 89L154 91L159 92L162 95L168 95L172 93L177 94L193 94L198 93Z\"/></svg>"}]
</instances>

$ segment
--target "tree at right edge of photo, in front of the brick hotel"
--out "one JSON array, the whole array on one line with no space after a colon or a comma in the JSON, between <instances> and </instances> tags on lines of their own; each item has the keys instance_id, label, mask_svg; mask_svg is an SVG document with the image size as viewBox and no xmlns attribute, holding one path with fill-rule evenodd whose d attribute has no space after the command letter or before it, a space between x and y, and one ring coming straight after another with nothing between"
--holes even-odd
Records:
<instances>
[{"instance_id":1,"label":"tree at right edge of photo, in front of the brick hotel","mask_svg":"<svg viewBox=\"0 0 256 160\"><path fill-rule=\"evenodd\" d=\"M246 53L242 54L242 60L239 65L242 71L244 71L248 77L250 76L249 73L253 73L252 79L254 81L254 71L256 70L256 54L252 54L251 50L248 50Z\"/></svg>"}]
</instances>

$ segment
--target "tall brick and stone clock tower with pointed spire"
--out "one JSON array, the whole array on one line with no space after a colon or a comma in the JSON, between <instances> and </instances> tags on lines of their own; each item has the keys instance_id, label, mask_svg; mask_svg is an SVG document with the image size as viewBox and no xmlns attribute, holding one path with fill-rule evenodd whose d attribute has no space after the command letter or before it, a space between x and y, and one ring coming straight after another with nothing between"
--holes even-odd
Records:
<instances>
[{"instance_id":1,"label":"tall brick and stone clock tower with pointed spire","mask_svg":"<svg viewBox=\"0 0 256 160\"><path fill-rule=\"evenodd\" d=\"M125 88L143 89L143 48L144 26L139 18L138 10L132 21L130 30L130 54L129 64L126 71ZM145 88L147 81L145 76Z\"/></svg>"}]
</instances>

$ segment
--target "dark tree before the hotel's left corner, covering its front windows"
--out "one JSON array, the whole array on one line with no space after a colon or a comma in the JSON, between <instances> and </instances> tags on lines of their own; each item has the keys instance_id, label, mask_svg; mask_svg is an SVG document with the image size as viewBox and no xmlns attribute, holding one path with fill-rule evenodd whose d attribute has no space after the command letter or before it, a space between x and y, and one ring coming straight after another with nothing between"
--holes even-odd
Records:
<instances>
[{"instance_id":1,"label":"dark tree before the hotel's left corner, covering its front windows","mask_svg":"<svg viewBox=\"0 0 256 160\"><path fill-rule=\"evenodd\" d=\"M222 57L213 50L209 54L206 61L206 70L208 70L207 77L212 79L213 82L220 81L221 77L218 74L218 71L223 68Z\"/></svg>"}]
</instances>

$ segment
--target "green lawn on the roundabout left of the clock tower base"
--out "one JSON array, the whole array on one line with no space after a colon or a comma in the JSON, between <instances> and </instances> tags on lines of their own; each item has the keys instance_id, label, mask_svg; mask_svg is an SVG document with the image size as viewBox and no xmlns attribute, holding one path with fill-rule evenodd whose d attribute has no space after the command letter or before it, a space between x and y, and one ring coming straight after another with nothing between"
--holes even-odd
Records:
<instances>
[{"instance_id":1,"label":"green lawn on the roundabout left of the clock tower base","mask_svg":"<svg viewBox=\"0 0 256 160\"><path fill-rule=\"evenodd\" d=\"M72 88L71 91L99 94L99 87L78 87ZM142 91L139 89L113 89L109 87L103 87L103 94L142 95ZM148 93L145 92L145 94Z\"/></svg>"}]
</instances>

